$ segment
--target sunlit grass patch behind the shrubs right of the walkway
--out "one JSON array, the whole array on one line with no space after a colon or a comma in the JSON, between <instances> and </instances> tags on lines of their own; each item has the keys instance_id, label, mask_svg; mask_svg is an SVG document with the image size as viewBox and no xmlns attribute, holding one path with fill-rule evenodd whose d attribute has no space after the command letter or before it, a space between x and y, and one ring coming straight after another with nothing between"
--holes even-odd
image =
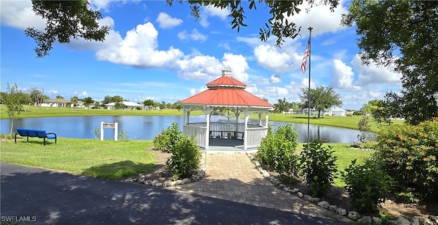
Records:
<instances>
[{"instance_id":1,"label":"sunlit grass patch behind the shrubs right of the walkway","mask_svg":"<svg viewBox=\"0 0 438 225\"><path fill-rule=\"evenodd\" d=\"M362 163L364 159L368 159L374 151L372 150L359 150L351 149L348 143L324 143L323 146L332 146L332 150L335 152L333 156L337 157L337 171L344 172L344 168L350 166L353 159L357 159L358 163ZM298 145L298 148L302 148L302 144ZM338 174L339 176L340 174ZM335 178L335 186L344 187L345 183L341 180L340 176Z\"/></svg>"}]
</instances>

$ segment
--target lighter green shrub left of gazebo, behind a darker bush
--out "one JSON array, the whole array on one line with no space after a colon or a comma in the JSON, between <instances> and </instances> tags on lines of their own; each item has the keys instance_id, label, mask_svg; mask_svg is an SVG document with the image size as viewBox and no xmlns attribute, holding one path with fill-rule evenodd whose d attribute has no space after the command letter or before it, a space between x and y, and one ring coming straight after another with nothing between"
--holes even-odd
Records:
<instances>
[{"instance_id":1,"label":"lighter green shrub left of gazebo, behind a darker bush","mask_svg":"<svg viewBox=\"0 0 438 225\"><path fill-rule=\"evenodd\" d=\"M155 135L153 138L153 145L159 150L170 153L173 146L177 143L183 134L179 131L178 123L172 122L172 125L163 129L162 133Z\"/></svg>"}]
</instances>

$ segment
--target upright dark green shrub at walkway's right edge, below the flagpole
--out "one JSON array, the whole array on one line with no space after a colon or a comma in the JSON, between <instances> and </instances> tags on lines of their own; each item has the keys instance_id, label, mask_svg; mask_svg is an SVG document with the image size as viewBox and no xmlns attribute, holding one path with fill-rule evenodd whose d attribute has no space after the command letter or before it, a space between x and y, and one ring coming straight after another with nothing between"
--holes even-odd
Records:
<instances>
[{"instance_id":1,"label":"upright dark green shrub at walkway's right edge, below the flagpole","mask_svg":"<svg viewBox=\"0 0 438 225\"><path fill-rule=\"evenodd\" d=\"M329 193L337 167L331 146L326 148L318 140L309 145L303 145L304 150L300 156L302 175L312 192L312 196L324 197Z\"/></svg>"}]
</instances>

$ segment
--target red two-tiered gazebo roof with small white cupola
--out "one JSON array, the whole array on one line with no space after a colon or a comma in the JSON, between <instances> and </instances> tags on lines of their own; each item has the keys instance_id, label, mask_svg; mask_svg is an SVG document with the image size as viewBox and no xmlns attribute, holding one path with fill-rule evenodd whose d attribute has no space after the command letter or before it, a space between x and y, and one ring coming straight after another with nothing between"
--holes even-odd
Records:
<instances>
[{"instance_id":1,"label":"red two-tiered gazebo roof with small white cupola","mask_svg":"<svg viewBox=\"0 0 438 225\"><path fill-rule=\"evenodd\" d=\"M222 77L207 83L207 90L180 101L180 105L211 105L272 108L272 104L246 92L246 85L231 77L231 70L222 70Z\"/></svg>"}]
</instances>

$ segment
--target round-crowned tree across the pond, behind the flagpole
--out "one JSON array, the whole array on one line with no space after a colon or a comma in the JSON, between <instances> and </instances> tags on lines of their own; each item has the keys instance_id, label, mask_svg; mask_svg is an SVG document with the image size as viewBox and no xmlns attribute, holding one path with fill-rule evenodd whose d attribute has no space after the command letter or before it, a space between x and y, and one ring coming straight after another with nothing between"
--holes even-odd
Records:
<instances>
[{"instance_id":1,"label":"round-crowned tree across the pond, behind the flagpole","mask_svg":"<svg viewBox=\"0 0 438 225\"><path fill-rule=\"evenodd\" d=\"M309 99L307 95L309 90L307 88L302 88L301 90L301 105L303 108L307 108L309 107ZM333 88L324 88L323 86L320 86L310 90L310 109L318 111L318 118L321 116L321 111L333 106L342 106L341 98Z\"/></svg>"}]
</instances>

